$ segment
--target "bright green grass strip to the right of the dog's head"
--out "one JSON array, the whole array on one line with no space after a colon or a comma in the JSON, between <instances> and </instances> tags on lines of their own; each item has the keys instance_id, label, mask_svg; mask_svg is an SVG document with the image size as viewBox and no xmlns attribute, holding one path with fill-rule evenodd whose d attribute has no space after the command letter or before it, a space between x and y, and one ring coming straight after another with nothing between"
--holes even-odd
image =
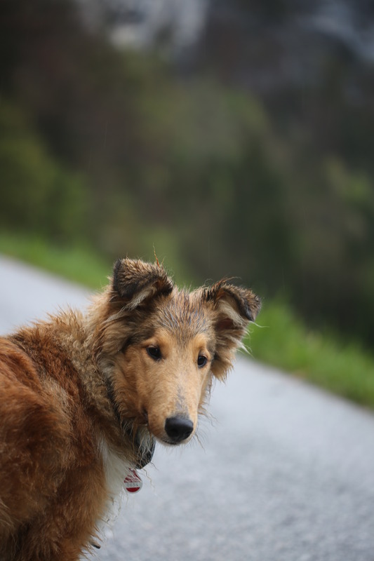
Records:
<instances>
[{"instance_id":1,"label":"bright green grass strip to the right of the dog's head","mask_svg":"<svg viewBox=\"0 0 374 561\"><path fill-rule=\"evenodd\" d=\"M374 356L356 342L309 330L286 304L265 303L246 344L254 358L374 409Z\"/></svg>"}]
</instances>

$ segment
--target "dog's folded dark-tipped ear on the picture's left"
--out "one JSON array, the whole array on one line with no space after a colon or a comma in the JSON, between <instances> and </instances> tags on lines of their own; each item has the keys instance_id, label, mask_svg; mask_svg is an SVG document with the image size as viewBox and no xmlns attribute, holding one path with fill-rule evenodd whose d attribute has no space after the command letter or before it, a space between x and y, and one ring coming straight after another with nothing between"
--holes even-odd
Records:
<instances>
[{"instance_id":1,"label":"dog's folded dark-tipped ear on the picture's left","mask_svg":"<svg viewBox=\"0 0 374 561\"><path fill-rule=\"evenodd\" d=\"M172 290L173 281L158 262L150 264L136 259L118 259L114 264L113 300L120 299L121 306L128 311L156 295L168 295Z\"/></svg>"}]
</instances>

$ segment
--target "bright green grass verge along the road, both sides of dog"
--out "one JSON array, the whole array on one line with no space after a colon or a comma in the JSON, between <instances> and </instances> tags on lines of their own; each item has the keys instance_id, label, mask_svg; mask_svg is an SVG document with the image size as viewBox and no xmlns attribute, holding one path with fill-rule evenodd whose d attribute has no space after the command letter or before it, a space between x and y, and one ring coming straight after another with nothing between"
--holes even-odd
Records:
<instances>
[{"instance_id":1,"label":"bright green grass verge along the road, both sides of dog","mask_svg":"<svg viewBox=\"0 0 374 561\"><path fill-rule=\"evenodd\" d=\"M1 232L0 252L93 289L105 285L112 267L88 248ZM286 304L265 302L247 346L255 359L374 410L374 356L334 334L308 330Z\"/></svg>"}]
</instances>

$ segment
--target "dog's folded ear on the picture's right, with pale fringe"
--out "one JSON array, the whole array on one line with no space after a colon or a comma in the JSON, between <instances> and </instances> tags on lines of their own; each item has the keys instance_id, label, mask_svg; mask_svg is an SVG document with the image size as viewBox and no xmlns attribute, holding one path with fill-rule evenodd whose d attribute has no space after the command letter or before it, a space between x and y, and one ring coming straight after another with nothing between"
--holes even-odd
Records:
<instances>
[{"instance_id":1,"label":"dog's folded ear on the picture's right, with pale fringe","mask_svg":"<svg viewBox=\"0 0 374 561\"><path fill-rule=\"evenodd\" d=\"M254 321L261 308L261 300L251 290L220 280L203 289L203 301L213 306L216 349L212 372L224 378L232 367L236 349L246 328Z\"/></svg>"}]
</instances>

